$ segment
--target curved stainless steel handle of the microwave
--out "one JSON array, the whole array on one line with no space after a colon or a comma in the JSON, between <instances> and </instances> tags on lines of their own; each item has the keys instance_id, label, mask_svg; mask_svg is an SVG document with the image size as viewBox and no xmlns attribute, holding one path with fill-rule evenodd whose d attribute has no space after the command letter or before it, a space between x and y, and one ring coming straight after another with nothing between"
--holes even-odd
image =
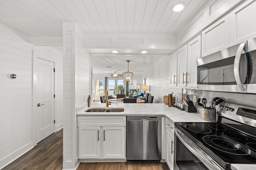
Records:
<instances>
[{"instance_id":1,"label":"curved stainless steel handle of the microwave","mask_svg":"<svg viewBox=\"0 0 256 170\"><path fill-rule=\"evenodd\" d=\"M244 50L246 43L241 43L240 46L238 47L238 50L236 52L236 57L234 61L234 75L236 79L236 83L238 85L238 88L240 89L241 92L244 92L246 88L244 87L241 78L240 78L240 72L239 72L239 66L240 66L240 58L242 55L242 52Z\"/></svg>"}]
</instances>

